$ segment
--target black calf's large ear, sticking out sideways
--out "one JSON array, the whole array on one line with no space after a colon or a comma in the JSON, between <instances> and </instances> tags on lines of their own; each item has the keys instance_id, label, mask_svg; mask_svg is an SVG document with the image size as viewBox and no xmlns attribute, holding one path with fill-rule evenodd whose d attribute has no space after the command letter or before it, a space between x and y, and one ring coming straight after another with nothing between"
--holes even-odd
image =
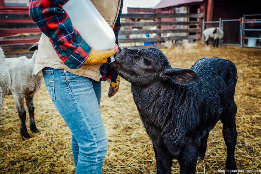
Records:
<instances>
[{"instance_id":1,"label":"black calf's large ear, sticking out sideways","mask_svg":"<svg viewBox=\"0 0 261 174\"><path fill-rule=\"evenodd\" d=\"M187 84L199 79L196 72L190 69L170 68L162 73L164 78L172 79L177 84Z\"/></svg>"}]
</instances>

